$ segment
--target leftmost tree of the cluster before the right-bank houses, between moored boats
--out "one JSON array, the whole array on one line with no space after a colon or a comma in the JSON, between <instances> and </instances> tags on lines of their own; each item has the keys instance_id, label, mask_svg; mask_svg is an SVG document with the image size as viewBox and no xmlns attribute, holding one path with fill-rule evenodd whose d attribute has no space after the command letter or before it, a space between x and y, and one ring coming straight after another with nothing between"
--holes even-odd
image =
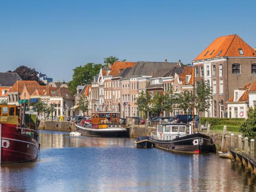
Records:
<instances>
[{"instance_id":1,"label":"leftmost tree of the cluster before the right-bank houses, between moored boats","mask_svg":"<svg viewBox=\"0 0 256 192\"><path fill-rule=\"evenodd\" d=\"M136 105L139 108L139 112L143 113L144 117L147 117L147 113L150 110L149 104L150 104L150 95L148 94L148 91L142 91L139 93L138 97L136 98ZM140 116L140 114L139 114Z\"/></svg>"}]
</instances>

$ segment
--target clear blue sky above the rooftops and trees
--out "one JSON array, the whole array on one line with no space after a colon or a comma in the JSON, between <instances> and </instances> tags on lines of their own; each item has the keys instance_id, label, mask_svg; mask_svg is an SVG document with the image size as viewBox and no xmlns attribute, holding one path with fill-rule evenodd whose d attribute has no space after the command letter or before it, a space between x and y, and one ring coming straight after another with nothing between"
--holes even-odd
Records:
<instances>
[{"instance_id":1,"label":"clear blue sky above the rooftops and trees","mask_svg":"<svg viewBox=\"0 0 256 192\"><path fill-rule=\"evenodd\" d=\"M216 37L256 47L256 1L0 0L0 71L19 65L55 81L72 69L128 61L191 61Z\"/></svg>"}]
</instances>

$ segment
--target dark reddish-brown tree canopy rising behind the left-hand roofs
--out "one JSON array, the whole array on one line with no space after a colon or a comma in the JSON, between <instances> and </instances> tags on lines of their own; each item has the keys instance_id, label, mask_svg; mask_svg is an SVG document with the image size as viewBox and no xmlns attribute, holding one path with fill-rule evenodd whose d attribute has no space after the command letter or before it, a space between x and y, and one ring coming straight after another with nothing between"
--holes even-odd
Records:
<instances>
[{"instance_id":1,"label":"dark reddish-brown tree canopy rising behind the left-hand roofs","mask_svg":"<svg viewBox=\"0 0 256 192\"><path fill-rule=\"evenodd\" d=\"M14 71L9 70L8 72L17 73L24 81L37 81L39 84L44 85L44 82L39 79L38 72L35 70L35 68L32 69L27 66L21 65L17 67Z\"/></svg>"}]
</instances>

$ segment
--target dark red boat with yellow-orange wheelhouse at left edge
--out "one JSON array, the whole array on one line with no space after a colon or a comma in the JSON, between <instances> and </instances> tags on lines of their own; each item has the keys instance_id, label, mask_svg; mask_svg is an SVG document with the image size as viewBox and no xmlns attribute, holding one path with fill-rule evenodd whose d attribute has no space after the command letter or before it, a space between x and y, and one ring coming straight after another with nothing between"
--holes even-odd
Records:
<instances>
[{"instance_id":1,"label":"dark red boat with yellow-orange wheelhouse at left edge","mask_svg":"<svg viewBox=\"0 0 256 192\"><path fill-rule=\"evenodd\" d=\"M24 105L25 107L25 105ZM25 110L23 110L25 114ZM40 145L36 123L25 123L20 106L0 105L0 163L35 161ZM30 126L31 125L31 126Z\"/></svg>"}]
</instances>

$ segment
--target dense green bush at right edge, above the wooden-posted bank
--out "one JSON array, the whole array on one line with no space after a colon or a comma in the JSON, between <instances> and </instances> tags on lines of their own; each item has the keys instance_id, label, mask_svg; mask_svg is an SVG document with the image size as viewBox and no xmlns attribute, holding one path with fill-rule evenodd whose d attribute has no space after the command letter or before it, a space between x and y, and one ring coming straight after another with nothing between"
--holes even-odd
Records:
<instances>
[{"instance_id":1,"label":"dense green bush at right edge, above the wooden-posted bank","mask_svg":"<svg viewBox=\"0 0 256 192\"><path fill-rule=\"evenodd\" d=\"M242 123L240 131L244 137L254 139L256 137L256 110L249 108L248 118Z\"/></svg>"}]
</instances>

